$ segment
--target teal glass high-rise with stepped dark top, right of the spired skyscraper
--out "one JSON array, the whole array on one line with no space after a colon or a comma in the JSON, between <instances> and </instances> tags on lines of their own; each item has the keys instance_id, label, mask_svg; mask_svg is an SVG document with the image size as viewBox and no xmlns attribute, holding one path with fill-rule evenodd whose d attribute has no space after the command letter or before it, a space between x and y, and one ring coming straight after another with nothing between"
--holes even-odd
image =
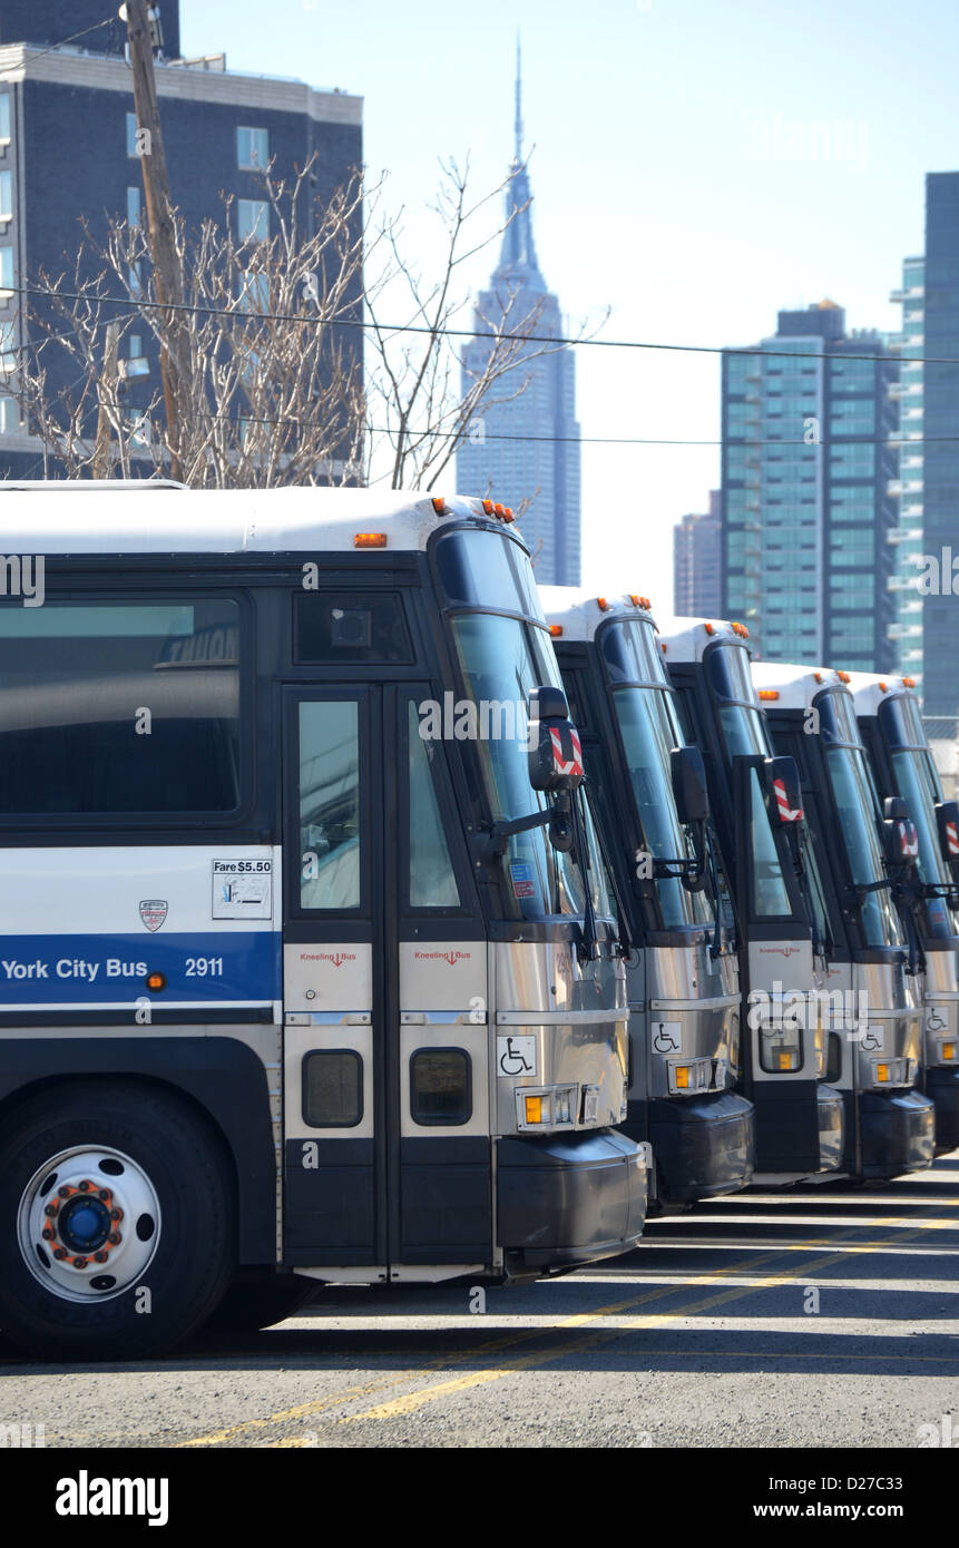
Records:
<instances>
[{"instance_id":1,"label":"teal glass high-rise with stepped dark top, right of the spired skyscraper","mask_svg":"<svg viewBox=\"0 0 959 1548\"><path fill-rule=\"evenodd\" d=\"M724 607L768 661L888 672L897 362L832 300L724 354Z\"/></svg>"}]
</instances>

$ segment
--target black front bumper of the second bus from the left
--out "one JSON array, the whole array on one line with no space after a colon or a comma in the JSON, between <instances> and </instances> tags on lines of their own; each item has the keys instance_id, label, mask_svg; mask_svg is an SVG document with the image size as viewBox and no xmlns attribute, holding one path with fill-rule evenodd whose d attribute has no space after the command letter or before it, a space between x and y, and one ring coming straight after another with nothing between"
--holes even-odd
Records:
<instances>
[{"instance_id":1,"label":"black front bumper of the second bus from the left","mask_svg":"<svg viewBox=\"0 0 959 1548\"><path fill-rule=\"evenodd\" d=\"M756 1169L753 1104L736 1091L649 1104L657 1203L717 1198L745 1187Z\"/></svg>"}]
</instances>

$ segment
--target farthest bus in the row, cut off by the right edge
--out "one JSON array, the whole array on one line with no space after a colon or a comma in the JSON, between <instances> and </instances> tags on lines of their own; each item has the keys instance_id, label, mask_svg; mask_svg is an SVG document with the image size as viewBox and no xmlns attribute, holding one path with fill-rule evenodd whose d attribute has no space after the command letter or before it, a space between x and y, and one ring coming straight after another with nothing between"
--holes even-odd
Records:
<instances>
[{"instance_id":1,"label":"farthest bus in the row, cut off by the right edge","mask_svg":"<svg viewBox=\"0 0 959 1548\"><path fill-rule=\"evenodd\" d=\"M916 875L900 887L922 952L919 1087L936 1108L936 1150L959 1146L959 805L942 799L913 678L851 672L860 735L883 810L916 825Z\"/></svg>"}]
</instances>

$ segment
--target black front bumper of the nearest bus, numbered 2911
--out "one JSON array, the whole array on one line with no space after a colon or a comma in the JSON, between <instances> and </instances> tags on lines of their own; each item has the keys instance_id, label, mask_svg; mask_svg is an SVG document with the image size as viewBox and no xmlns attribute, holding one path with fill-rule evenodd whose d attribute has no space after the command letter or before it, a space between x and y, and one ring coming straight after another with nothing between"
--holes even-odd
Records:
<instances>
[{"instance_id":1,"label":"black front bumper of the nearest bus, numbered 2911","mask_svg":"<svg viewBox=\"0 0 959 1548\"><path fill-rule=\"evenodd\" d=\"M614 1128L497 1141L497 1240L519 1277L627 1252L646 1220L646 1153Z\"/></svg>"}]
</instances>

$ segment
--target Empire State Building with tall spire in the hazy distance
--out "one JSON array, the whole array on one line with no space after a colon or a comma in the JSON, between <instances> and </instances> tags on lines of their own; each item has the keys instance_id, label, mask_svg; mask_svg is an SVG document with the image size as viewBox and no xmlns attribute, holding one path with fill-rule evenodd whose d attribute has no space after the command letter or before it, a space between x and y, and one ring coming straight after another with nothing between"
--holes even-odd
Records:
<instances>
[{"instance_id":1,"label":"Empire State Building with tall spire in the hazy distance","mask_svg":"<svg viewBox=\"0 0 959 1548\"><path fill-rule=\"evenodd\" d=\"M516 60L516 147L507 186L507 217L499 265L474 313L477 333L507 319L507 331L534 337L562 336L556 296L547 288L533 245L530 178L522 166L519 51ZM482 375L490 339L477 337L463 351L463 396ZM575 359L570 348L522 347L516 364L493 384L468 440L457 449L457 489L517 506L531 500L522 533L533 551L541 584L579 584L579 426L576 423ZM525 387L524 387L525 384ZM522 389L522 390L521 390ZM514 395L514 396L511 396ZM505 401L508 399L508 401Z\"/></svg>"}]
</instances>

